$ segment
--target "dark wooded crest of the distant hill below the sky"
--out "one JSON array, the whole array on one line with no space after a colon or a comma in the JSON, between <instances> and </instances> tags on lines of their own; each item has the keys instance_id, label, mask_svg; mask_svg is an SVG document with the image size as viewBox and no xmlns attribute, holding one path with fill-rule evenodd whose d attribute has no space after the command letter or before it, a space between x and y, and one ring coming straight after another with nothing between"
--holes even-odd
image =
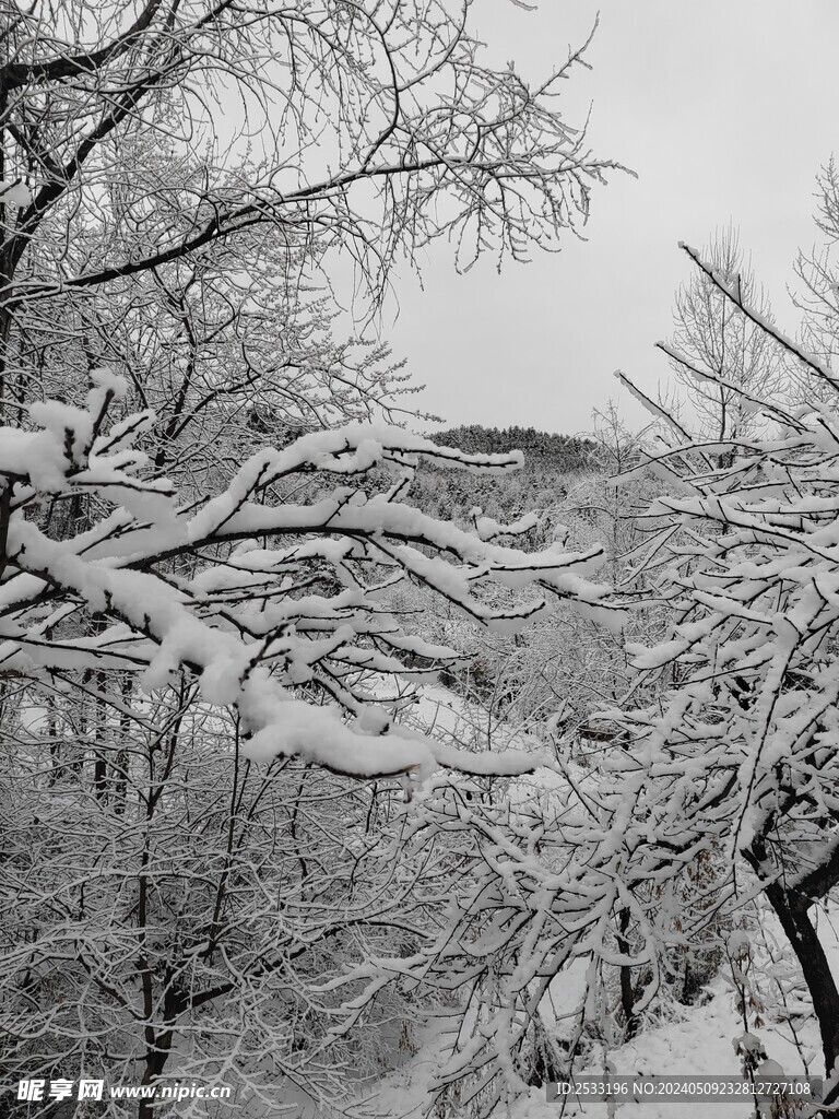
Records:
<instances>
[{"instance_id":1,"label":"dark wooded crest of the distant hill below the sky","mask_svg":"<svg viewBox=\"0 0 839 1119\"><path fill-rule=\"evenodd\" d=\"M576 435L557 435L535 427L484 427L464 424L428 436L441 446L456 446L473 454L524 451L525 469L573 473L591 469L595 444Z\"/></svg>"}]
</instances>

